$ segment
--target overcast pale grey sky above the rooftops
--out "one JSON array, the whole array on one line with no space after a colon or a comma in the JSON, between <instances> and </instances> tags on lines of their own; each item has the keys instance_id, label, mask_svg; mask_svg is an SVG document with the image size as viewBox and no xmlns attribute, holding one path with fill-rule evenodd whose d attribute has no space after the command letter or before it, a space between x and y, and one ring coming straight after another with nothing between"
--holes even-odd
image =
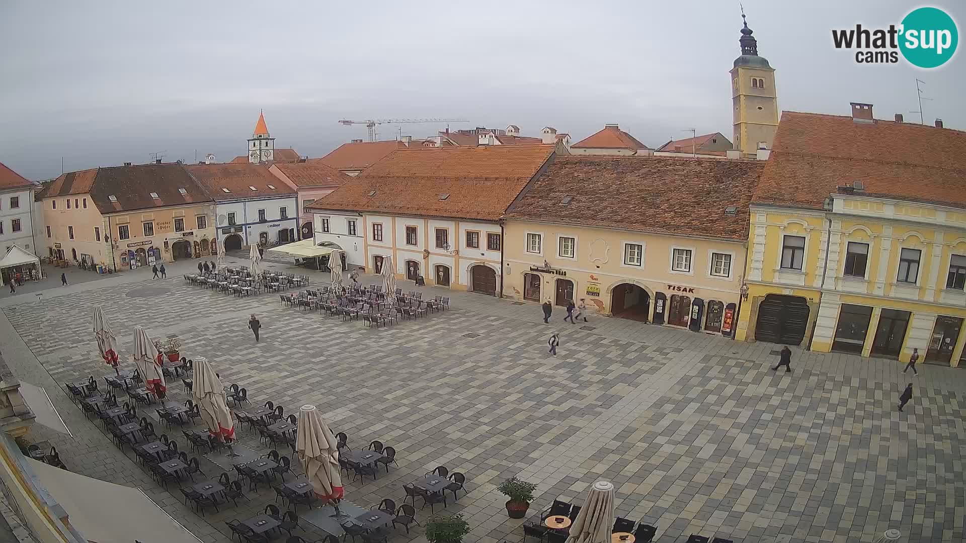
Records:
<instances>
[{"instance_id":1,"label":"overcast pale grey sky above the rooftops","mask_svg":"<svg viewBox=\"0 0 966 543\"><path fill-rule=\"evenodd\" d=\"M831 29L888 26L896 0L746 0L783 110L918 114L966 129L966 59L942 69L862 66ZM964 31L966 5L934 2ZM339 119L456 118L544 126L574 142L618 123L641 141L730 136L738 1L33 2L0 4L0 161L43 180L67 171L243 155L260 108L275 146L320 157L365 128ZM962 47L960 47L962 48ZM432 135L442 125L403 125ZM394 139L397 127L380 128Z\"/></svg>"}]
</instances>

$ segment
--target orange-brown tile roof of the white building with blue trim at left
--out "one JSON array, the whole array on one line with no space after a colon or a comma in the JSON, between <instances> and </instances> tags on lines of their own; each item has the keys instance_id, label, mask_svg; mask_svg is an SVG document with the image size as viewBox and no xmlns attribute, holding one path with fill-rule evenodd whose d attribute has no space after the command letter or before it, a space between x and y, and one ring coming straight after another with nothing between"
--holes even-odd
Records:
<instances>
[{"instance_id":1,"label":"orange-brown tile roof of the white building with blue trim at left","mask_svg":"<svg viewBox=\"0 0 966 543\"><path fill-rule=\"evenodd\" d=\"M276 178L265 164L192 164L186 168L215 201L296 193L294 188ZM251 189L252 186L255 190Z\"/></svg>"}]
</instances>

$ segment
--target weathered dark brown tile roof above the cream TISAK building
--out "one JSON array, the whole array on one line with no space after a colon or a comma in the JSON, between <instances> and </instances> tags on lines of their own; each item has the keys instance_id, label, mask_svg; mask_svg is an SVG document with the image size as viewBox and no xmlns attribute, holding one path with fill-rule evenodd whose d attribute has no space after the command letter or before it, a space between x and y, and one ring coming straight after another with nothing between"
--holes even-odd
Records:
<instances>
[{"instance_id":1,"label":"weathered dark brown tile roof above the cream TISAK building","mask_svg":"<svg viewBox=\"0 0 966 543\"><path fill-rule=\"evenodd\" d=\"M748 205L763 168L756 160L556 157L506 217L746 240ZM725 213L729 206L735 214Z\"/></svg>"}]
</instances>

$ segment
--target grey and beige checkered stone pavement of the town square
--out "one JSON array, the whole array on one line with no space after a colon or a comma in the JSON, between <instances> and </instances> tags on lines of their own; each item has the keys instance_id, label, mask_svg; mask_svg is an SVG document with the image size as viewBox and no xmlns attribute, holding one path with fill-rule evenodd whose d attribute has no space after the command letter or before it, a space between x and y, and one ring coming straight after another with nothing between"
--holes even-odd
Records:
<instances>
[{"instance_id":1,"label":"grey and beige checkered stone pavement of the town square","mask_svg":"<svg viewBox=\"0 0 966 543\"><path fill-rule=\"evenodd\" d=\"M271 400L294 413L313 403L354 448L376 439L395 446L398 468L347 486L359 505L401 503L402 485L438 465L465 472L469 495L447 511L469 519L468 543L522 537L522 521L507 519L495 490L518 473L539 485L531 515L557 497L581 502L594 480L609 479L617 514L657 526L661 543L693 532L748 542L871 541L887 528L909 541L963 538L963 370L924 366L907 377L895 361L797 353L792 373L774 373L767 369L777 359L773 345L618 319L571 326L557 313L548 327L536 305L460 293L448 311L368 329L283 307L277 296L240 300L171 275L104 283L4 313L59 384L108 373L90 331L100 304L122 351L134 325L154 338L177 335L183 355L208 357L254 405ZM246 329L250 313L262 322L260 343ZM551 329L562 331L557 357L546 349ZM908 381L916 397L900 414L895 403ZM183 401L180 390L170 384ZM73 412L66 418L78 439L40 432L71 470L150 490L205 541L227 541L222 521L253 516L274 500L263 489L250 503L199 517L174 486L171 495L150 482L70 400L56 401ZM177 428L165 431L185 448ZM241 441L266 451L249 430ZM207 461L202 468L221 471ZM424 540L422 530L392 536L409 538Z\"/></svg>"}]
</instances>

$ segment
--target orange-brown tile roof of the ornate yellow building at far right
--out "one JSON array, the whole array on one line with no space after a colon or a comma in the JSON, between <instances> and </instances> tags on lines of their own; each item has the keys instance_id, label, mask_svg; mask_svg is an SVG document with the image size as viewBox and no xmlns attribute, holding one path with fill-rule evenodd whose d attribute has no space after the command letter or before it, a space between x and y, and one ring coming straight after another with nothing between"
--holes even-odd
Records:
<instances>
[{"instance_id":1,"label":"orange-brown tile roof of the ornate yellow building at far right","mask_svg":"<svg viewBox=\"0 0 966 543\"><path fill-rule=\"evenodd\" d=\"M785 111L754 202L822 209L838 186L857 194L966 208L966 132Z\"/></svg>"}]
</instances>

